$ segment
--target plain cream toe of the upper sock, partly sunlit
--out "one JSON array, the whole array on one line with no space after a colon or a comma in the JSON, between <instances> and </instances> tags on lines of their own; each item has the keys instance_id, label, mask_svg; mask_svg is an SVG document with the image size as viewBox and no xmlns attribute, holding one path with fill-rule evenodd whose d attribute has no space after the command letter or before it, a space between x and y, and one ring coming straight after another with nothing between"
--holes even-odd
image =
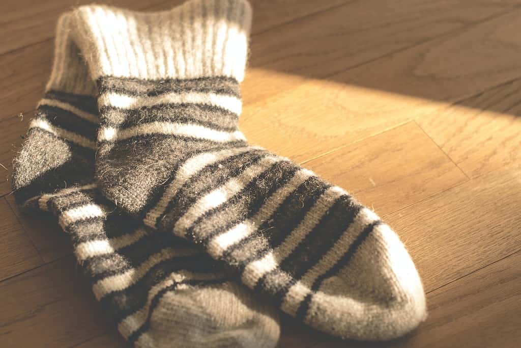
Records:
<instances>
[{"instance_id":1,"label":"plain cream toe of the upper sock, partly sunlit","mask_svg":"<svg viewBox=\"0 0 521 348\"><path fill-rule=\"evenodd\" d=\"M350 262L325 279L305 321L328 333L359 340L390 340L427 316L418 272L398 236L376 224L354 242Z\"/></svg>"}]
</instances>

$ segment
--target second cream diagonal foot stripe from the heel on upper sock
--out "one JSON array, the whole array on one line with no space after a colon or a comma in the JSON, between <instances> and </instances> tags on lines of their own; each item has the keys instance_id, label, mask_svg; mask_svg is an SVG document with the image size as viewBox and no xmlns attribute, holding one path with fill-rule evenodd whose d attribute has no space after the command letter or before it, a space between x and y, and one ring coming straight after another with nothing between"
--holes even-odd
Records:
<instances>
[{"instance_id":1,"label":"second cream diagonal foot stripe from the heel on upper sock","mask_svg":"<svg viewBox=\"0 0 521 348\"><path fill-rule=\"evenodd\" d=\"M263 158L258 163L246 167L240 175L231 178L224 185L221 185L219 188L197 200L197 202L190 207L173 226L173 233L184 237L184 232L195 222L195 220L197 220L197 218L208 210L216 208L226 202L235 194L239 193L244 186L250 183L256 176L261 175L272 165L280 161L287 161L287 159L270 155Z\"/></svg>"}]
</instances>

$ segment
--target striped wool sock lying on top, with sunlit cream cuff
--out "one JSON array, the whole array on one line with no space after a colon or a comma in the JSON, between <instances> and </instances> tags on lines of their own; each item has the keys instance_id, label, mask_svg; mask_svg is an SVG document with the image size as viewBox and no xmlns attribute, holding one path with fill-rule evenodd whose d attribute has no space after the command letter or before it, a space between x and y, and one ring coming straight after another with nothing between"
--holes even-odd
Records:
<instances>
[{"instance_id":1,"label":"striped wool sock lying on top, with sunlit cream cuff","mask_svg":"<svg viewBox=\"0 0 521 348\"><path fill-rule=\"evenodd\" d=\"M386 340L425 318L423 286L390 227L239 131L247 2L194 0L155 14L93 5L75 15L100 89L96 178L106 197L201 245L319 330Z\"/></svg>"}]
</instances>

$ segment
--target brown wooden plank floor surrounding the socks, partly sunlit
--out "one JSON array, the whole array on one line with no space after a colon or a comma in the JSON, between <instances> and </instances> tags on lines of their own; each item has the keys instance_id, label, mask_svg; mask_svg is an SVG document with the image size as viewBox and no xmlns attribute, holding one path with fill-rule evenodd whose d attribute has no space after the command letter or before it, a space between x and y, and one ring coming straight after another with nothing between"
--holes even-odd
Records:
<instances>
[{"instance_id":1,"label":"brown wooden plank floor surrounding the socks, partly sunlit","mask_svg":"<svg viewBox=\"0 0 521 348\"><path fill-rule=\"evenodd\" d=\"M111 1L141 10L179 2ZM71 4L0 3L1 347L123 346L59 227L21 215L9 194L55 22ZM518 347L521 1L253 7L246 137L383 216L410 250L429 307L416 331L385 344L339 341L284 317L280 346Z\"/></svg>"}]
</instances>

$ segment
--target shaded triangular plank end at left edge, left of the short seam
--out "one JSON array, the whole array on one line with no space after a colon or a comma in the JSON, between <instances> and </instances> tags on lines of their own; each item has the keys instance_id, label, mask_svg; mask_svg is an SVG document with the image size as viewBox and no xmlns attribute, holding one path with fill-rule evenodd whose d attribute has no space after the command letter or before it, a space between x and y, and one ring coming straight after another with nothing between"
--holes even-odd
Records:
<instances>
[{"instance_id":1,"label":"shaded triangular plank end at left edge, left of the short seam","mask_svg":"<svg viewBox=\"0 0 521 348\"><path fill-rule=\"evenodd\" d=\"M0 198L0 281L37 267L42 262L9 204Z\"/></svg>"}]
</instances>

